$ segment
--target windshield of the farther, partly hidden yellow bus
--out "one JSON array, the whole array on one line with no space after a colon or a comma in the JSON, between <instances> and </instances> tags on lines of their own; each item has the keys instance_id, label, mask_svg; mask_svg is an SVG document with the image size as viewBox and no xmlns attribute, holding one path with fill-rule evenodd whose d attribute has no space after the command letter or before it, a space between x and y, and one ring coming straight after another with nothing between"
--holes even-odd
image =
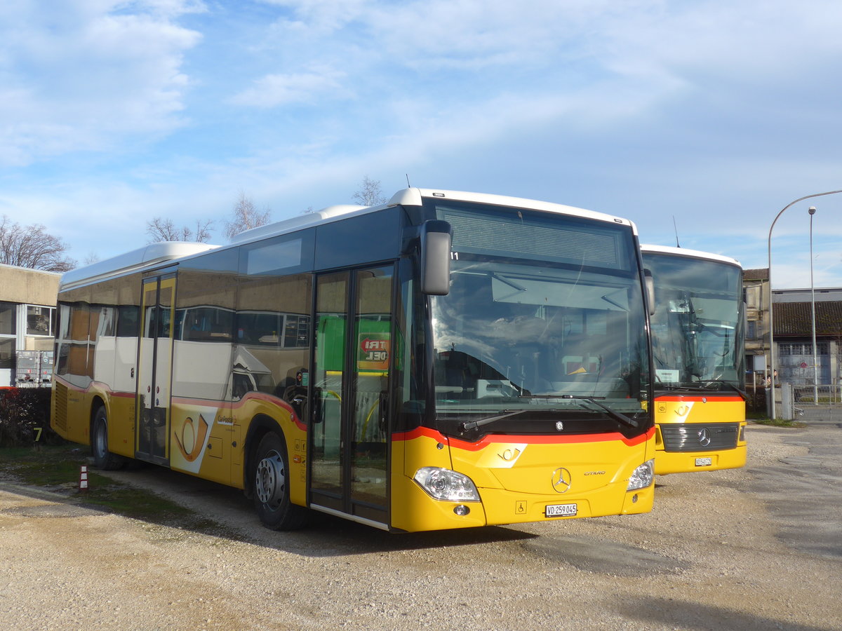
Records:
<instances>
[{"instance_id":1,"label":"windshield of the farther, partly hidden yellow bus","mask_svg":"<svg viewBox=\"0 0 842 631\"><path fill-rule=\"evenodd\" d=\"M656 390L743 388L742 271L727 262L643 252L655 283Z\"/></svg>"}]
</instances>

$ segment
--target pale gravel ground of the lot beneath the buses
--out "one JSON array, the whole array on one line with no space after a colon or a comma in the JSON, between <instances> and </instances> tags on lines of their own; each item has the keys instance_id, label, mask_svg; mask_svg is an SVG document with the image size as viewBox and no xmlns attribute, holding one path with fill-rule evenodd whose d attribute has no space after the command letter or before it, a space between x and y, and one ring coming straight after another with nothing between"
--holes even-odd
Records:
<instances>
[{"instance_id":1,"label":"pale gravel ground of the lot beneath the buses","mask_svg":"<svg viewBox=\"0 0 842 631\"><path fill-rule=\"evenodd\" d=\"M236 490L154 467L114 477L230 534L0 481L0 625L842 628L842 428L748 437L745 469L660 476L647 515L410 535L327 516L274 533Z\"/></svg>"}]
</instances>

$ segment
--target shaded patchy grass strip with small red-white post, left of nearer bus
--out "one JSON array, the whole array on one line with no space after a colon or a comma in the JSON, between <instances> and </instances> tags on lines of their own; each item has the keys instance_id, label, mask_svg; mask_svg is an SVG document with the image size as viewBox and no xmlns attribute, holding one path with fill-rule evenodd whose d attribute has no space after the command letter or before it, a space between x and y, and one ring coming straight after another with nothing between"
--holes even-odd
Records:
<instances>
[{"instance_id":1,"label":"shaded patchy grass strip with small red-white post, left of nearer bus","mask_svg":"<svg viewBox=\"0 0 842 631\"><path fill-rule=\"evenodd\" d=\"M88 448L59 445L42 448L0 448L0 473L22 485L67 496L70 501L162 526L231 536L220 524L150 490L111 480L88 467L88 490L79 490L79 467L88 462Z\"/></svg>"}]
</instances>

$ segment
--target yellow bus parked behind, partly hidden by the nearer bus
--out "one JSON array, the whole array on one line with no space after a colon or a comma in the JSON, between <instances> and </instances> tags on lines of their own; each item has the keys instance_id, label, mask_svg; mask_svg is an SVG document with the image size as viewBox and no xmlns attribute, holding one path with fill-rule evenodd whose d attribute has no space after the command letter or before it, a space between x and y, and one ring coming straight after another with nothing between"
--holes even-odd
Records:
<instances>
[{"instance_id":1,"label":"yellow bus parked behind, partly hidden by the nearer bus","mask_svg":"<svg viewBox=\"0 0 842 631\"><path fill-rule=\"evenodd\" d=\"M743 268L707 252L641 248L655 294L655 473L742 467Z\"/></svg>"}]
</instances>

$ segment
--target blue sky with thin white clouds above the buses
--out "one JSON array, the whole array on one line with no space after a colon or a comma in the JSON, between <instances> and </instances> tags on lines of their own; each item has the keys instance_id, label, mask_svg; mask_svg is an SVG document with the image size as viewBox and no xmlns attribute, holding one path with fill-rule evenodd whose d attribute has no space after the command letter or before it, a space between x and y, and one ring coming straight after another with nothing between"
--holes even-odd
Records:
<instances>
[{"instance_id":1,"label":"blue sky with thin white clouds above the buses","mask_svg":"<svg viewBox=\"0 0 842 631\"><path fill-rule=\"evenodd\" d=\"M0 215L82 263L370 178L765 268L781 210L842 190L840 32L838 0L4 2ZM775 288L842 287L842 193L787 208L771 260Z\"/></svg>"}]
</instances>

